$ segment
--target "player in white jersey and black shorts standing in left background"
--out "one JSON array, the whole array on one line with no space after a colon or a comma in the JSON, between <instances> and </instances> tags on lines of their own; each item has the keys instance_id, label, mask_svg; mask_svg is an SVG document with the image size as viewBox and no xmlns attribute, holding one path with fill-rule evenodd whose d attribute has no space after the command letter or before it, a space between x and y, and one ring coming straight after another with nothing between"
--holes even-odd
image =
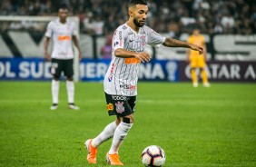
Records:
<instances>
[{"instance_id":1,"label":"player in white jersey and black shorts standing in left background","mask_svg":"<svg viewBox=\"0 0 256 167\"><path fill-rule=\"evenodd\" d=\"M51 73L53 74L52 80L52 96L53 105L51 110L58 108L58 94L60 87L60 76L62 72L66 76L66 90L68 94L68 106L70 109L79 110L79 107L74 104L74 69L73 69L73 44L77 47L79 52L79 59L81 60L82 54L76 37L76 27L73 21L67 19L68 9L62 6L58 12L59 18L51 21L45 33L44 40L44 57L46 61L52 61ZM53 38L53 52L52 56L48 54L48 46L50 38Z\"/></svg>"}]
</instances>

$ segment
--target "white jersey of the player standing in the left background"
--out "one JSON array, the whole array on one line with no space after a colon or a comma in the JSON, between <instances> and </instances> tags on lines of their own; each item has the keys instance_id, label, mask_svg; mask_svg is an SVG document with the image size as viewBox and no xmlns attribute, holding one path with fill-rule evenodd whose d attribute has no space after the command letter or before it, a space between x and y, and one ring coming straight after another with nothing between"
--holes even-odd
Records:
<instances>
[{"instance_id":1,"label":"white jersey of the player standing in the left background","mask_svg":"<svg viewBox=\"0 0 256 167\"><path fill-rule=\"evenodd\" d=\"M72 36L76 35L76 28L73 21L67 19L62 24L59 19L51 21L47 25L45 36L53 36L53 52L52 58L72 59L74 58Z\"/></svg>"}]
</instances>

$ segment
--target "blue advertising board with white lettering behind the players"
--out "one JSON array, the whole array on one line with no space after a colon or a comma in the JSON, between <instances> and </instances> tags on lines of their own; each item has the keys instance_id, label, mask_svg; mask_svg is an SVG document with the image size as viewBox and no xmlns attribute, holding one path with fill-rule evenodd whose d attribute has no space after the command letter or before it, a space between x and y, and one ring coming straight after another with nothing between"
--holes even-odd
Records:
<instances>
[{"instance_id":1,"label":"blue advertising board with white lettering behind the players","mask_svg":"<svg viewBox=\"0 0 256 167\"><path fill-rule=\"evenodd\" d=\"M103 81L110 60L83 59L79 64L81 81ZM178 81L178 62L152 60L141 64L139 79L143 81ZM44 58L0 58L0 80L51 80L51 63Z\"/></svg>"}]
</instances>

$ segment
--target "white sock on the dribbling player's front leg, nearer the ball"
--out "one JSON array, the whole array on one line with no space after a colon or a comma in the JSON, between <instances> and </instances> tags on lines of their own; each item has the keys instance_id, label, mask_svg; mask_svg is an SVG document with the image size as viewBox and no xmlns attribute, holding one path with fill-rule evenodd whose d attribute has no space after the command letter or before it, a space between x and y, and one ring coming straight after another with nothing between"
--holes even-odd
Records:
<instances>
[{"instance_id":1,"label":"white sock on the dribbling player's front leg, nearer the ball","mask_svg":"<svg viewBox=\"0 0 256 167\"><path fill-rule=\"evenodd\" d=\"M133 123L123 123L121 122L113 134L113 142L109 150L109 154L118 153L120 145L123 143L127 133L132 128Z\"/></svg>"}]
</instances>

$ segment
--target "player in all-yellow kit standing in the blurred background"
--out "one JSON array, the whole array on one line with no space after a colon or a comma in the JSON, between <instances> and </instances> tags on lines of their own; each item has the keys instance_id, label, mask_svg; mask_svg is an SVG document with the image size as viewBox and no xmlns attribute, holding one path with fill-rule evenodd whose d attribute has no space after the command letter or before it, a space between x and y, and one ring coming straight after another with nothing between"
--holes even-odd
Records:
<instances>
[{"instance_id":1,"label":"player in all-yellow kit standing in the blurred background","mask_svg":"<svg viewBox=\"0 0 256 167\"><path fill-rule=\"evenodd\" d=\"M199 68L202 76L202 83L205 87L210 87L208 83L207 74L205 71L205 60L206 60L206 45L205 40L202 34L200 34L199 29L194 29L192 35L188 38L188 43L197 44L204 49L204 54L199 54L192 49L187 49L188 60L190 61L191 66L191 75L192 75L192 85L193 87L198 86L198 79L196 74L196 69Z\"/></svg>"}]
</instances>

